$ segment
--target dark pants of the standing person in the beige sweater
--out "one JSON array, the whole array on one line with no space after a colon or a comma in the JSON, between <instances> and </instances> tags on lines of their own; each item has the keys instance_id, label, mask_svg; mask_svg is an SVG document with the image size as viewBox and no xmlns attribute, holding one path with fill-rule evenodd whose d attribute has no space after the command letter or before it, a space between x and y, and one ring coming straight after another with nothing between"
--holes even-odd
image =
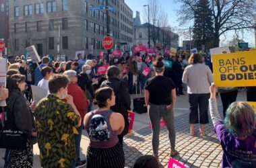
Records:
<instances>
[{"instance_id":1,"label":"dark pants of the standing person in the beige sweater","mask_svg":"<svg viewBox=\"0 0 256 168\"><path fill-rule=\"evenodd\" d=\"M209 98L210 98L210 93L189 94L189 103L190 103L189 123L190 124L209 123L209 118L207 113ZM199 108L199 118L198 118L198 108Z\"/></svg>"}]
</instances>

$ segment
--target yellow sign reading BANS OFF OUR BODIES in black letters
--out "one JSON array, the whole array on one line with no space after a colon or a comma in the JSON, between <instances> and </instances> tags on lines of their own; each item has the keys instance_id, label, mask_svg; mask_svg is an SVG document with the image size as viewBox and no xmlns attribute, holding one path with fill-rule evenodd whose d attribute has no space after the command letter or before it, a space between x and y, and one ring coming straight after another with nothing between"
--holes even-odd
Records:
<instances>
[{"instance_id":1,"label":"yellow sign reading BANS OFF OUR BODIES in black letters","mask_svg":"<svg viewBox=\"0 0 256 168\"><path fill-rule=\"evenodd\" d=\"M256 50L214 54L212 65L218 87L256 86Z\"/></svg>"}]
</instances>

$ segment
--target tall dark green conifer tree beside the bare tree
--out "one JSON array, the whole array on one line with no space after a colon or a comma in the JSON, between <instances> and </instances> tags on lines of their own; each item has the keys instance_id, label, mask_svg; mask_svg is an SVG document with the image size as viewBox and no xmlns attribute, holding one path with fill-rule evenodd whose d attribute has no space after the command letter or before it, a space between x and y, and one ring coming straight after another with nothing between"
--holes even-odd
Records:
<instances>
[{"instance_id":1,"label":"tall dark green conifer tree beside the bare tree","mask_svg":"<svg viewBox=\"0 0 256 168\"><path fill-rule=\"evenodd\" d=\"M210 49L214 45L214 26L212 22L212 11L210 9L210 2L208 0L199 0L195 5L194 13L194 27L193 40L195 47Z\"/></svg>"}]
</instances>

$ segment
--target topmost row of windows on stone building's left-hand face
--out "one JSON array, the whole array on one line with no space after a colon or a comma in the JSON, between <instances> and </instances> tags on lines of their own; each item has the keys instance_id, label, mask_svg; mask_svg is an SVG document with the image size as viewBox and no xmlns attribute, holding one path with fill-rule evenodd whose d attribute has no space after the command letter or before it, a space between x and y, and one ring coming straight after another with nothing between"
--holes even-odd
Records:
<instances>
[{"instance_id":1,"label":"topmost row of windows on stone building's left-hand face","mask_svg":"<svg viewBox=\"0 0 256 168\"><path fill-rule=\"evenodd\" d=\"M62 0L62 10L67 11L67 0ZM47 1L46 2L46 12L52 13L57 11L57 2L56 1ZM25 16L32 15L32 5L24 5L23 13ZM41 14L44 13L44 3L35 3L34 4L34 13ZM14 7L14 17L18 17L20 15L20 7Z\"/></svg>"}]
</instances>

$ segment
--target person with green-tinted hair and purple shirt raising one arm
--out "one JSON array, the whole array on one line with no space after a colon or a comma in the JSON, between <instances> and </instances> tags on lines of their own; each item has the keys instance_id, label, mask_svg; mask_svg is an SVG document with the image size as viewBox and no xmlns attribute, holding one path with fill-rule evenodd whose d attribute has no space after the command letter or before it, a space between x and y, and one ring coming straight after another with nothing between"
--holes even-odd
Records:
<instances>
[{"instance_id":1,"label":"person with green-tinted hair and purple shirt raising one arm","mask_svg":"<svg viewBox=\"0 0 256 168\"><path fill-rule=\"evenodd\" d=\"M210 114L223 150L222 167L256 167L256 116L245 102L234 102L224 122L218 113L216 86L210 87Z\"/></svg>"}]
</instances>

